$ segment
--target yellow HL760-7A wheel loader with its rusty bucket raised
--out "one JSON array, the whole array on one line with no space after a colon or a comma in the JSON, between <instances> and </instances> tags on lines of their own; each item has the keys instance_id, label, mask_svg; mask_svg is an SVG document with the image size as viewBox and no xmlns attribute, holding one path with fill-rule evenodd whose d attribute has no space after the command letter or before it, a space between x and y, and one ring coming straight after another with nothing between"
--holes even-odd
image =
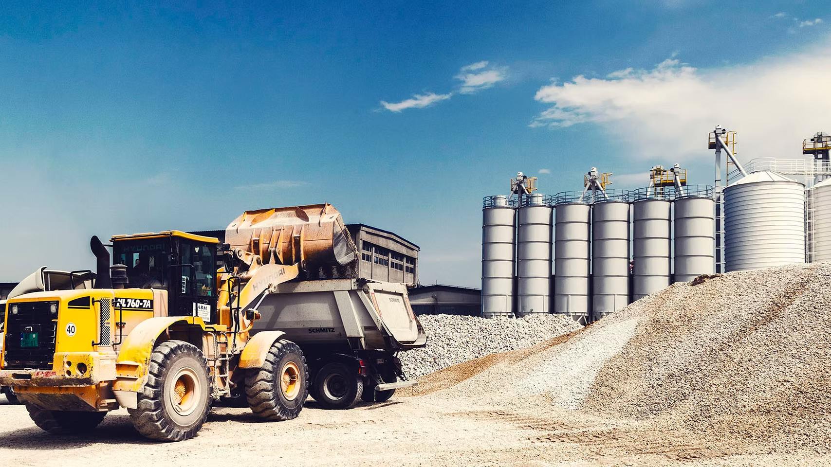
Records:
<instances>
[{"instance_id":1,"label":"yellow HL760-7A wheel loader with its rusty bucket raised","mask_svg":"<svg viewBox=\"0 0 831 467\"><path fill-rule=\"evenodd\" d=\"M54 434L91 430L125 407L142 435L186 440L214 401L234 397L263 420L297 417L306 359L281 331L250 333L257 308L278 284L343 268L357 251L329 204L256 213L284 219L273 238L248 229L248 245L231 248L176 230L118 235L112 266L93 237L91 288L7 300L0 386Z\"/></svg>"}]
</instances>

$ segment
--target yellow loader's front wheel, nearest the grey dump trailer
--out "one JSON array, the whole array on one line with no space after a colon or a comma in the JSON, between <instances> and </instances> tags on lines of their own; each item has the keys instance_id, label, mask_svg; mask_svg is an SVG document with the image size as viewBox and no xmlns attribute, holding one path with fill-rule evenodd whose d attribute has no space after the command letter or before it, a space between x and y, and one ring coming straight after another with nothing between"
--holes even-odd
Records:
<instances>
[{"instance_id":1,"label":"yellow loader's front wheel, nearest the grey dump trailer","mask_svg":"<svg viewBox=\"0 0 831 467\"><path fill-rule=\"evenodd\" d=\"M279 339L262 368L245 374L245 396L254 415L263 420L292 420L308 396L308 366L300 347Z\"/></svg>"}]
</instances>

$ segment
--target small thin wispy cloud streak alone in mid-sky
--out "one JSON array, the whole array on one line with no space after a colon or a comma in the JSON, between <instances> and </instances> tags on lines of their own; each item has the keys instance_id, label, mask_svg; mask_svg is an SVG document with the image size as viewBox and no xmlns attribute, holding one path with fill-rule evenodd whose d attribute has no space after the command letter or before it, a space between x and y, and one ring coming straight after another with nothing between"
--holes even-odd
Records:
<instances>
[{"instance_id":1,"label":"small thin wispy cloud streak alone in mid-sky","mask_svg":"<svg viewBox=\"0 0 831 467\"><path fill-rule=\"evenodd\" d=\"M477 61L462 66L459 73L454 77L461 81L458 91L449 91L445 94L436 94L435 92L414 94L410 99L400 102L381 101L381 107L387 111L397 113L406 109L423 109L433 106L441 101L447 101L456 93L473 94L493 87L499 81L504 81L508 77L508 66L490 66L489 61Z\"/></svg>"}]
</instances>

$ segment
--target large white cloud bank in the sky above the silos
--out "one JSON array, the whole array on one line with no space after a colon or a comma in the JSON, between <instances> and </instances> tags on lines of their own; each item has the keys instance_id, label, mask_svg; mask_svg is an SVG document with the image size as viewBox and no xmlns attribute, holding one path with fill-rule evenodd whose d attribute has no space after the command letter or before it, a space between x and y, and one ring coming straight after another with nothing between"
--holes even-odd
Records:
<instances>
[{"instance_id":1,"label":"large white cloud bank in the sky above the silos","mask_svg":"<svg viewBox=\"0 0 831 467\"><path fill-rule=\"evenodd\" d=\"M716 124L739 132L741 160L791 157L815 131L829 131L831 41L743 66L699 70L677 59L607 78L576 76L541 87L549 105L531 126L600 125L640 158L706 157Z\"/></svg>"}]
</instances>

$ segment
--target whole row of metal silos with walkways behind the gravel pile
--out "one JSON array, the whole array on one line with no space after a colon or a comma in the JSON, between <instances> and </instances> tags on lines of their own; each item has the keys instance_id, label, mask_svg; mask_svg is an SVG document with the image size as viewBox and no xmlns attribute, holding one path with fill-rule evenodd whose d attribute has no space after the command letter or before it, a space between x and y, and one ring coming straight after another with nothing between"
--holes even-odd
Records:
<instances>
[{"instance_id":1,"label":"whole row of metal silos with walkways behind the gravel pile","mask_svg":"<svg viewBox=\"0 0 831 467\"><path fill-rule=\"evenodd\" d=\"M831 260L831 136L804 140L813 160L742 165L735 132L720 126L708 148L713 185L656 165L647 186L615 190L593 168L582 192L538 194L520 172L508 195L485 197L482 315L555 312L585 324L701 274Z\"/></svg>"}]
</instances>

